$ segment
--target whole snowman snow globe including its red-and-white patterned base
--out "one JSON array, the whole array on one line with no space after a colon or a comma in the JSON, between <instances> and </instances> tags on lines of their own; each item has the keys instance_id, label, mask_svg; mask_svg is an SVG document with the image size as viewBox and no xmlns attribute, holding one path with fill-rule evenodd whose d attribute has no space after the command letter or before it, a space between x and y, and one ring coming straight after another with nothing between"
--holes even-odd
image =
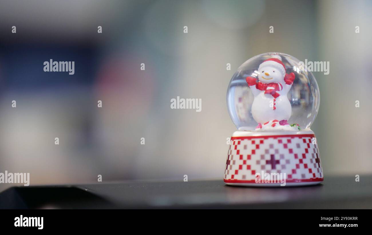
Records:
<instances>
[{"instance_id":1,"label":"whole snowman snow globe including its red-and-white patterned base","mask_svg":"<svg viewBox=\"0 0 372 235\"><path fill-rule=\"evenodd\" d=\"M242 64L231 78L232 134L224 182L238 186L302 186L323 181L315 134L319 110L314 75L291 55L270 52Z\"/></svg>"}]
</instances>

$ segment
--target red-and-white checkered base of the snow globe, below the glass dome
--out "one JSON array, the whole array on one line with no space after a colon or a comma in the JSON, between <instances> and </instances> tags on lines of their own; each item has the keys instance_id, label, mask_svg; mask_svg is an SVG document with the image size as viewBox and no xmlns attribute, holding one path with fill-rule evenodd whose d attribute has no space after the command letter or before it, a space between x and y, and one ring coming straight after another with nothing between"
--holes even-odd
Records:
<instances>
[{"instance_id":1,"label":"red-and-white checkered base of the snow globe, below the glass dome","mask_svg":"<svg viewBox=\"0 0 372 235\"><path fill-rule=\"evenodd\" d=\"M314 134L232 137L226 183L255 183L256 173L286 173L286 182L323 181ZM314 144L313 144L314 143Z\"/></svg>"}]
</instances>

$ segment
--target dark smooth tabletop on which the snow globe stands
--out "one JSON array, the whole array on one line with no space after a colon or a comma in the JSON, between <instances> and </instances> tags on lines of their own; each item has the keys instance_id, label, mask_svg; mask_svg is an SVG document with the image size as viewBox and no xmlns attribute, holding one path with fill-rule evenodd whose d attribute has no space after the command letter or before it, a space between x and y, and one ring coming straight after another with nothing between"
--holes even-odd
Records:
<instances>
[{"instance_id":1,"label":"dark smooth tabletop on which the snow globe stands","mask_svg":"<svg viewBox=\"0 0 372 235\"><path fill-rule=\"evenodd\" d=\"M0 208L372 209L372 176L325 177L317 186L255 188L222 180L12 187Z\"/></svg>"}]
</instances>

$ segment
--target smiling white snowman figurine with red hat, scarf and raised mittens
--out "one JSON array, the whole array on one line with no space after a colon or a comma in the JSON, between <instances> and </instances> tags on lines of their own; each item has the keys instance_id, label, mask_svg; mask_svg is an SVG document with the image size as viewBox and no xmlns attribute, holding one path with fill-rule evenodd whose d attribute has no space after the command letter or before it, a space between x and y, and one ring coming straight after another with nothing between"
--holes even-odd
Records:
<instances>
[{"instance_id":1,"label":"smiling white snowman figurine with red hat, scarf and raised mittens","mask_svg":"<svg viewBox=\"0 0 372 235\"><path fill-rule=\"evenodd\" d=\"M258 72L258 82L255 77L246 78L254 96L252 115L258 122L256 130L263 129L263 125L269 129L291 129L288 119L291 117L292 106L287 93L295 80L295 74L286 74L279 55L263 61Z\"/></svg>"}]
</instances>

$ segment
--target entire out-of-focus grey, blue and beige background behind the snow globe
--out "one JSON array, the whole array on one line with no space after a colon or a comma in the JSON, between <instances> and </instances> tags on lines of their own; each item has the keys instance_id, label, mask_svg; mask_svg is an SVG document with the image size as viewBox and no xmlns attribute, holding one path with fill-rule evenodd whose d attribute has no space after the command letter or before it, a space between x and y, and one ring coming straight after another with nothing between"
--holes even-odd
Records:
<instances>
[{"instance_id":1,"label":"entire out-of-focus grey, blue and beige background behind the snow globe","mask_svg":"<svg viewBox=\"0 0 372 235\"><path fill-rule=\"evenodd\" d=\"M237 130L228 83L275 51L330 61L314 73L311 128L325 178L372 173L371 11L352 0L0 0L0 172L28 172L31 185L222 180ZM75 61L75 74L45 73L49 59ZM170 109L177 96L202 99L202 112Z\"/></svg>"}]
</instances>

